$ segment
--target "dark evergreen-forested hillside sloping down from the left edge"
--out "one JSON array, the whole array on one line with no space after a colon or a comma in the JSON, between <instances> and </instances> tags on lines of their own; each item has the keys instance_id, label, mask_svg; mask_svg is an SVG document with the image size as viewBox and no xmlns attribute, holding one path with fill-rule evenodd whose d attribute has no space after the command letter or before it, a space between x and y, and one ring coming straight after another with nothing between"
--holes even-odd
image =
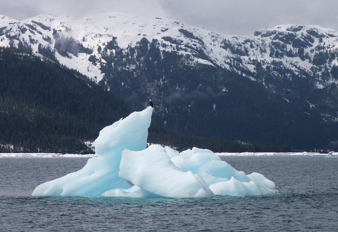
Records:
<instances>
[{"instance_id":1,"label":"dark evergreen-forested hillside sloping down from the left edge","mask_svg":"<svg viewBox=\"0 0 338 232\"><path fill-rule=\"evenodd\" d=\"M16 151L92 152L83 142L130 112L122 99L77 71L25 51L0 49L2 145Z\"/></svg>"}]
</instances>

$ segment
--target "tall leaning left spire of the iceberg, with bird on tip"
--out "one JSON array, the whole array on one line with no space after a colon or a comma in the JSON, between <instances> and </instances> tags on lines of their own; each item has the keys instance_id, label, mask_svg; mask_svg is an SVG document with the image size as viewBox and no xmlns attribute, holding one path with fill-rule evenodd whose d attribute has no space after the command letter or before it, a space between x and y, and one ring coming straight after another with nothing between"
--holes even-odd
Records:
<instances>
[{"instance_id":1,"label":"tall leaning left spire of the iceberg, with bird on tip","mask_svg":"<svg viewBox=\"0 0 338 232\"><path fill-rule=\"evenodd\" d=\"M103 128L93 143L98 156L88 159L77 172L38 185L32 196L96 197L108 190L128 189L128 181L118 176L122 151L147 147L152 113L148 107Z\"/></svg>"}]
</instances>

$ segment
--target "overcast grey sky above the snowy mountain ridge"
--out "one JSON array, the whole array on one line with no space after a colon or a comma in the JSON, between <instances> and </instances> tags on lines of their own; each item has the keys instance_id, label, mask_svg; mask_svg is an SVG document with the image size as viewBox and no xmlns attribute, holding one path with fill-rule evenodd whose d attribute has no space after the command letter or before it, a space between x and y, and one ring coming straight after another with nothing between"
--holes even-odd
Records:
<instances>
[{"instance_id":1,"label":"overcast grey sky above the snowy mountain ridge","mask_svg":"<svg viewBox=\"0 0 338 232\"><path fill-rule=\"evenodd\" d=\"M338 29L338 0L0 0L0 14L22 20L42 13L89 16L104 12L169 16L224 34L253 34L278 24Z\"/></svg>"}]
</instances>

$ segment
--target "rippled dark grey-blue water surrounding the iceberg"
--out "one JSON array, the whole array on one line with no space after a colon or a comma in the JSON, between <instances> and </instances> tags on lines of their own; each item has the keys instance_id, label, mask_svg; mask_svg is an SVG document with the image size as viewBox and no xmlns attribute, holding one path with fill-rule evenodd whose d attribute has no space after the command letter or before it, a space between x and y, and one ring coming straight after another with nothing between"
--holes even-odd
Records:
<instances>
[{"instance_id":1,"label":"rippled dark grey-blue water surrounding the iceberg","mask_svg":"<svg viewBox=\"0 0 338 232\"><path fill-rule=\"evenodd\" d=\"M338 158L226 157L279 194L214 199L31 197L85 158L0 158L0 231L338 231Z\"/></svg>"}]
</instances>

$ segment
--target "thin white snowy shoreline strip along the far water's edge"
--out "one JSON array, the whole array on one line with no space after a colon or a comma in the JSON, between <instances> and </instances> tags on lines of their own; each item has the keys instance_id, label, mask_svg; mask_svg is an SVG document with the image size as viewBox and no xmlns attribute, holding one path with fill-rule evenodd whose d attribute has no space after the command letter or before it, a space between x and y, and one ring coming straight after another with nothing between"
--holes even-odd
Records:
<instances>
[{"instance_id":1,"label":"thin white snowy shoreline strip along the far water's edge","mask_svg":"<svg viewBox=\"0 0 338 232\"><path fill-rule=\"evenodd\" d=\"M218 156L328 156L326 153L316 152L221 152L215 153ZM0 153L0 158L91 158L95 154L61 154L61 153ZM338 157L334 152L330 157Z\"/></svg>"}]
</instances>

